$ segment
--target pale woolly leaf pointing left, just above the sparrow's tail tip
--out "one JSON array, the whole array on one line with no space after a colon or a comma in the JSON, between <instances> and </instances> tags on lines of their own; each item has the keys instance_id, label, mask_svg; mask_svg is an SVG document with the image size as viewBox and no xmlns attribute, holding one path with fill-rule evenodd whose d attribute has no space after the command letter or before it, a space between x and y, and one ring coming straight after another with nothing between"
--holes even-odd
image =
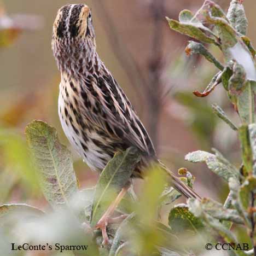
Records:
<instances>
[{"instance_id":1,"label":"pale woolly leaf pointing left, just above the sparrow's tail tip","mask_svg":"<svg viewBox=\"0 0 256 256\"><path fill-rule=\"evenodd\" d=\"M240 174L235 166L230 164L228 160L223 160L219 156L213 155L205 151L195 151L187 154L185 160L190 162L206 162L208 168L216 173L218 176L229 181L229 178L233 177L238 179Z\"/></svg>"}]
</instances>

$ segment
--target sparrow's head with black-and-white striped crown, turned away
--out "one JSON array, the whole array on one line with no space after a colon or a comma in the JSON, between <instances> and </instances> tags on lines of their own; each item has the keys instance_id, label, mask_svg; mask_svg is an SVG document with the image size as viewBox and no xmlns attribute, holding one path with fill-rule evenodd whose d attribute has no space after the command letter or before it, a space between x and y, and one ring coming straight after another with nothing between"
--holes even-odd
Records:
<instances>
[{"instance_id":1,"label":"sparrow's head with black-and-white striped crown, turned away","mask_svg":"<svg viewBox=\"0 0 256 256\"><path fill-rule=\"evenodd\" d=\"M74 61L82 55L89 59L96 49L91 9L85 4L68 4L60 8L54 21L51 44L57 62L61 62L58 64Z\"/></svg>"}]
</instances>

